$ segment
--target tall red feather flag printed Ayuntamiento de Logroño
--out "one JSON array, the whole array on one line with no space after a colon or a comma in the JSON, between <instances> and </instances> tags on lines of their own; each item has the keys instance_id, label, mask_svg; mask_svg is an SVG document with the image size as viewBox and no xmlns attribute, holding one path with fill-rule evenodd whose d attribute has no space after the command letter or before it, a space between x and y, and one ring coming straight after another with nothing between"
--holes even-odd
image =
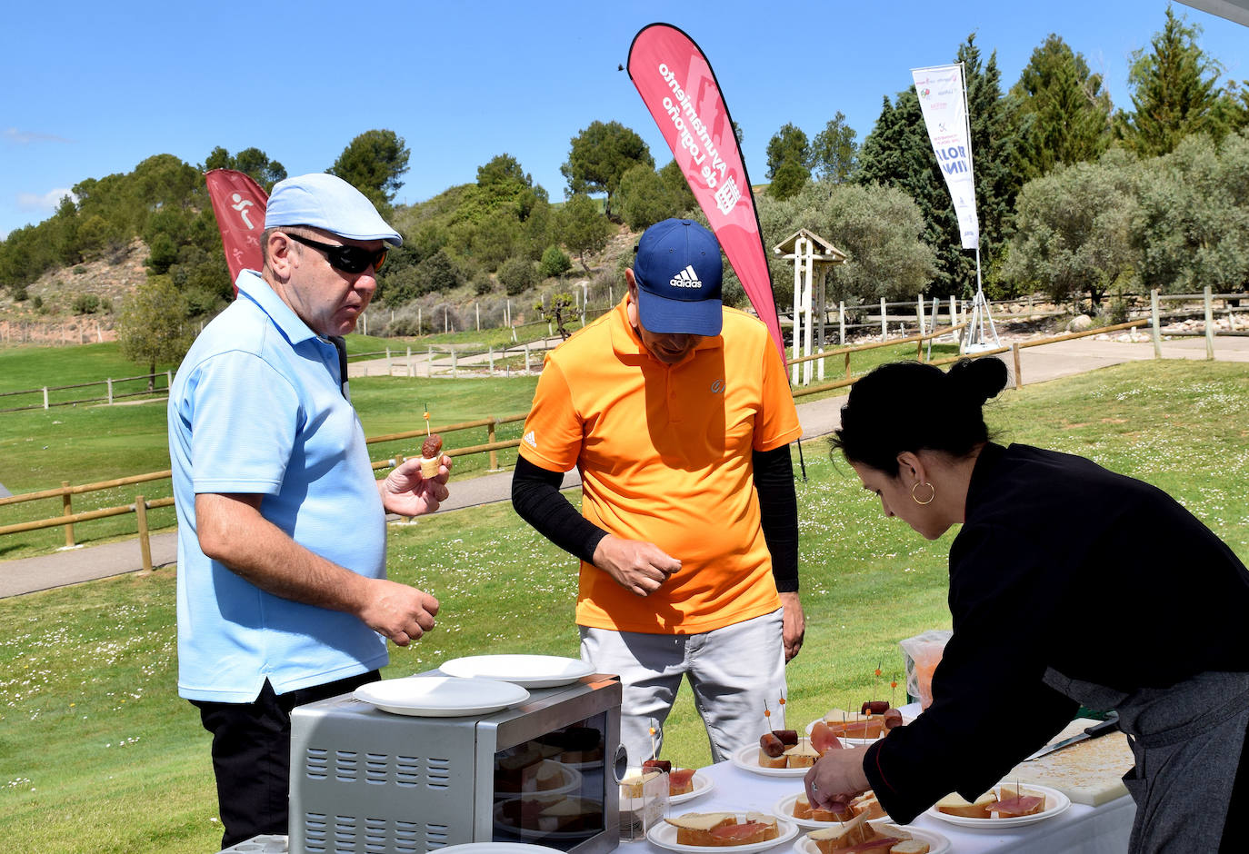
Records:
<instances>
[{"instance_id":1,"label":"tall red feather flag printed Ayuntamiento de Logro\u00f1o","mask_svg":"<svg viewBox=\"0 0 1249 854\"><path fill-rule=\"evenodd\" d=\"M633 36L628 76L672 149L698 206L707 215L742 288L784 361L784 341L751 179L711 64L693 39L679 29L671 24L651 24Z\"/></svg>"}]
</instances>

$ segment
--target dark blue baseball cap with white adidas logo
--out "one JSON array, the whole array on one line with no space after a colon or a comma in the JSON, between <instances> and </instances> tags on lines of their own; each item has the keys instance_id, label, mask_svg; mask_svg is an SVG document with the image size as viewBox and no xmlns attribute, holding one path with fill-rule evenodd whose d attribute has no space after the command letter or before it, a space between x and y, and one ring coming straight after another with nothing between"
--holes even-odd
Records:
<instances>
[{"instance_id":1,"label":"dark blue baseball cap with white adidas logo","mask_svg":"<svg viewBox=\"0 0 1249 854\"><path fill-rule=\"evenodd\" d=\"M637 242L637 313L648 332L719 335L721 278L716 236L692 220L664 220Z\"/></svg>"}]
</instances>

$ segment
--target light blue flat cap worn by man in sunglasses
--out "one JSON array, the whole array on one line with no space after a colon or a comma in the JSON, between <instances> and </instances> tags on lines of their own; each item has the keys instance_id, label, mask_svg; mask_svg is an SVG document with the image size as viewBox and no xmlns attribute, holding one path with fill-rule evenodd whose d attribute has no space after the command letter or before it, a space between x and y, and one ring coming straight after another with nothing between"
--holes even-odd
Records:
<instances>
[{"instance_id":1,"label":"light blue flat cap worn by man in sunglasses","mask_svg":"<svg viewBox=\"0 0 1249 854\"><path fill-rule=\"evenodd\" d=\"M312 226L351 240L385 240L402 246L403 238L365 194L336 175L313 172L279 181L265 207L265 227Z\"/></svg>"}]
</instances>

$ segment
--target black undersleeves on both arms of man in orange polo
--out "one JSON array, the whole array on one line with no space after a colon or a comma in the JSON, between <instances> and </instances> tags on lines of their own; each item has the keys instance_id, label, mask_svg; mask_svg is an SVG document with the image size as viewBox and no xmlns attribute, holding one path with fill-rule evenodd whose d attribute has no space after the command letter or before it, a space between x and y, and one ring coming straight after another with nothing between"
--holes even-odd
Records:
<instances>
[{"instance_id":1,"label":"black undersleeves on both arms of man in orange polo","mask_svg":"<svg viewBox=\"0 0 1249 854\"><path fill-rule=\"evenodd\" d=\"M772 553L777 591L798 589L798 498L788 446L753 451L754 488L759 493L759 526ZM593 563L595 549L607 532L588 521L560 493L561 472L535 466L525 457L512 474L512 506L522 519L552 543Z\"/></svg>"}]
</instances>

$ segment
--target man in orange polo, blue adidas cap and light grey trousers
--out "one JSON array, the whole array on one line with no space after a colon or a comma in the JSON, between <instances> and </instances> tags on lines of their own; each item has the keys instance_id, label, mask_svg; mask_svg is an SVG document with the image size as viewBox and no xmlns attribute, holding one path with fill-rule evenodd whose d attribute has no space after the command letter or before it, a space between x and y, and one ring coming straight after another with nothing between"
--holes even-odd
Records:
<instances>
[{"instance_id":1,"label":"man in orange polo, blue adidas cap and light grey trousers","mask_svg":"<svg viewBox=\"0 0 1249 854\"><path fill-rule=\"evenodd\" d=\"M581 655L621 675L633 764L682 677L716 762L757 742L806 628L802 428L767 328L721 305L721 276L697 222L647 228L624 298L547 356L512 479L521 517L581 558ZM573 467L581 514L560 494Z\"/></svg>"}]
</instances>

